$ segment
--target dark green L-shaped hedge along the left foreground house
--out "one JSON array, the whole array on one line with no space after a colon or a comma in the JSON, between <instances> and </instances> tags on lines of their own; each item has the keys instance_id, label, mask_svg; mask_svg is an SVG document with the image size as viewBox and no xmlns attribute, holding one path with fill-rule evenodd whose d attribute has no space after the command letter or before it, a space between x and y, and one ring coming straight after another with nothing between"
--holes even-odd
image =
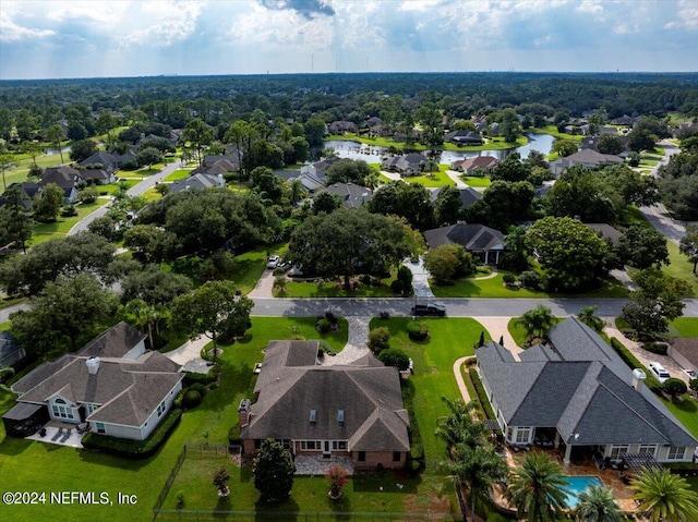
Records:
<instances>
[{"instance_id":1,"label":"dark green L-shaped hedge along the left foreground house","mask_svg":"<svg viewBox=\"0 0 698 522\"><path fill-rule=\"evenodd\" d=\"M148 457L153 457L155 452L160 449L160 446L163 446L163 444L168 439L181 418L181 410L174 409L170 411L145 440L131 440L88 433L83 437L82 445L87 449L104 451L105 453L116 454L119 457L147 459Z\"/></svg>"}]
</instances>

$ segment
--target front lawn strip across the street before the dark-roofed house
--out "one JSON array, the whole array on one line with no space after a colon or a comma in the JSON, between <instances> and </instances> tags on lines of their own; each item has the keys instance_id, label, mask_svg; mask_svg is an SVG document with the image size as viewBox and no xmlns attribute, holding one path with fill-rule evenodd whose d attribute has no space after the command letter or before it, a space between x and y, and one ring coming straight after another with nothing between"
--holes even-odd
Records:
<instances>
[{"instance_id":1,"label":"front lawn strip across the street before the dark-roofed house","mask_svg":"<svg viewBox=\"0 0 698 522\"><path fill-rule=\"evenodd\" d=\"M492 279L461 279L450 286L430 287L436 298L627 298L627 290L616 280L607 281L602 288L591 292L575 294L551 294L525 288L509 289L504 286L504 275L500 271Z\"/></svg>"}]
</instances>

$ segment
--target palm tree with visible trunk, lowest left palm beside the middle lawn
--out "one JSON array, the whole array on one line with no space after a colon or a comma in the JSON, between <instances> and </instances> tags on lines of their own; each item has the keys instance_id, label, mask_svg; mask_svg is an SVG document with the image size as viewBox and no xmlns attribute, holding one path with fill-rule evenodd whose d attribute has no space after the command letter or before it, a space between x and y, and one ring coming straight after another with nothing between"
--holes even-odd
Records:
<instances>
[{"instance_id":1,"label":"palm tree with visible trunk, lowest left palm beside the middle lawn","mask_svg":"<svg viewBox=\"0 0 698 522\"><path fill-rule=\"evenodd\" d=\"M444 465L449 475L467 488L471 520L476 515L476 499L488 498L490 488L507 473L505 460L486 441L474 447L462 442L456 445L450 452L450 460Z\"/></svg>"}]
</instances>

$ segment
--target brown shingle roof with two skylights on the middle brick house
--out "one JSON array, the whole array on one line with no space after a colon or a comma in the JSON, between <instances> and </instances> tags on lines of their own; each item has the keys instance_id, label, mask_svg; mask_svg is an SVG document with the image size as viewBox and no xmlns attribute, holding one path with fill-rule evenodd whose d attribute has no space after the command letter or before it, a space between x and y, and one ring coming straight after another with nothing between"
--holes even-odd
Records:
<instances>
[{"instance_id":1,"label":"brown shingle roof with two skylights on the middle brick house","mask_svg":"<svg viewBox=\"0 0 698 522\"><path fill-rule=\"evenodd\" d=\"M312 357L313 363L289 366L291 352L291 362ZM397 369L317 366L316 352L316 341L269 343L255 387L257 401L242 437L349 440L350 451L409 450L409 421ZM310 421L311 410L315 422ZM337 420L338 411L344 411L344 423Z\"/></svg>"}]
</instances>

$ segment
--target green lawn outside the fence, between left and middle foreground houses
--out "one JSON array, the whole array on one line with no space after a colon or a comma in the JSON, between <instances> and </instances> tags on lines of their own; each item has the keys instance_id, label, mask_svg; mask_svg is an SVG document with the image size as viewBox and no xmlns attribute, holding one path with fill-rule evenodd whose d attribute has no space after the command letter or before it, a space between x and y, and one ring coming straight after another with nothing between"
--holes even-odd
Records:
<instances>
[{"instance_id":1,"label":"green lawn outside the fence, between left and middle foreground houses","mask_svg":"<svg viewBox=\"0 0 698 522\"><path fill-rule=\"evenodd\" d=\"M3 490L11 491L107 491L113 506L68 505L48 501L35 506L3 506L2 519L14 522L36 520L89 520L96 522L151 521L155 500L169 474L182 445L210 442L226 445L228 430L237 424L240 399L252 397L254 364L263 359L262 350L272 339L289 339L294 328L306 339L317 339L315 318L254 317L248 335L231 345L224 345L220 356L220 386L209 391L203 403L182 417L163 449L153 458L131 461L103 453L79 451L50 444L33 442L7 437L0 424L0 469ZM326 335L325 341L339 350L347 340L346 323L337 333ZM0 414L14 404L14 399L0 391ZM48 466L50 462L50 468ZM395 481L393 481L395 483ZM232 484L231 484L232 485ZM213 491L210 471L196 482L195 489ZM133 506L117 505L118 493L137 495ZM215 491L214 498L215 497ZM256 497L254 497L256 499ZM252 499L252 501L254 501ZM371 510L365 506L364 510ZM252 507L251 509L254 509ZM352 506L352 509L360 509Z\"/></svg>"}]
</instances>

